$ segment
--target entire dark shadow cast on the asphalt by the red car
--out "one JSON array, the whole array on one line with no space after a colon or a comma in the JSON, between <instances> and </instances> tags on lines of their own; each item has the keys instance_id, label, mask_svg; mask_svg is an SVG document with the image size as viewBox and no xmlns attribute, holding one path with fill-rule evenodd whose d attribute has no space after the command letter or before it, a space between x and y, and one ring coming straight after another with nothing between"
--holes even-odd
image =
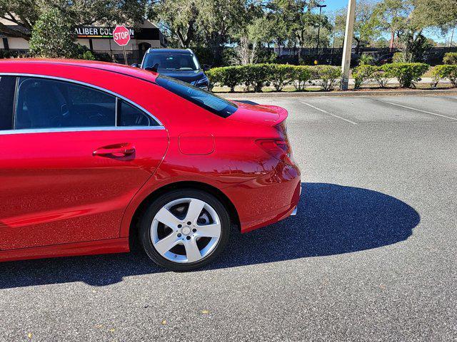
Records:
<instances>
[{"instance_id":1,"label":"entire dark shadow cast on the asphalt by the red car","mask_svg":"<svg viewBox=\"0 0 457 342\"><path fill-rule=\"evenodd\" d=\"M395 244L420 222L416 210L381 192L303 183L298 213L256 231L233 232L224 254L204 270L328 256ZM0 263L0 289L83 281L116 284L166 271L142 252Z\"/></svg>"}]
</instances>

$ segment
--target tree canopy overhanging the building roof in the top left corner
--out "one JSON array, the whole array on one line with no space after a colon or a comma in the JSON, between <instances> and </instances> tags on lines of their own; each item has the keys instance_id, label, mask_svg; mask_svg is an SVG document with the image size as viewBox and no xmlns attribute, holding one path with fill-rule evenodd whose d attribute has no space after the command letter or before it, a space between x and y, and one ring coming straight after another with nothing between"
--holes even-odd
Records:
<instances>
[{"instance_id":1,"label":"tree canopy overhanging the building roof in the top left corner","mask_svg":"<svg viewBox=\"0 0 457 342\"><path fill-rule=\"evenodd\" d=\"M127 23L132 26L144 19L146 3L150 0L0 0L0 18L18 26L0 24L0 34L31 38L36 21L49 7L59 9L76 25Z\"/></svg>"}]
</instances>

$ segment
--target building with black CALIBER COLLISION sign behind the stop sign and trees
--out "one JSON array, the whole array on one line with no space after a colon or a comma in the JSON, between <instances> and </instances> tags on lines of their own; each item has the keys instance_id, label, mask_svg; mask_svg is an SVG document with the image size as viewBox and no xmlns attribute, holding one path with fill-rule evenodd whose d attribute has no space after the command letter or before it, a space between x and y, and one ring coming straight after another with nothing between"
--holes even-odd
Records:
<instances>
[{"instance_id":1,"label":"building with black CALIBER COLLISION sign behind the stop sign and trees","mask_svg":"<svg viewBox=\"0 0 457 342\"><path fill-rule=\"evenodd\" d=\"M11 21L0 19L1 24L6 26L16 26ZM122 48L114 43L114 27L106 26L81 26L76 28L76 41L81 45L87 46L94 53L105 57L107 60L112 58L114 61L124 63ZM130 41L125 46L127 60L129 63L138 63L144 56L148 48L162 48L166 46L166 40L157 26L145 20L139 28L130 28ZM29 42L24 38L16 38L0 35L0 49L16 53L27 53Z\"/></svg>"}]
</instances>

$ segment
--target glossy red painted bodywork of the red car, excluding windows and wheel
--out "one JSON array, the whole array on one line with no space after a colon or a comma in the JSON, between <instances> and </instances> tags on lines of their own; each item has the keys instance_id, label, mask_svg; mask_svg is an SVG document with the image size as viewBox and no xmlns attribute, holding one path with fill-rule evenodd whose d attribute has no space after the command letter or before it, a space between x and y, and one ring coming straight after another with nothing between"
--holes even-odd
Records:
<instances>
[{"instance_id":1,"label":"glossy red painted bodywork of the red car, excluding windows and wheel","mask_svg":"<svg viewBox=\"0 0 457 342\"><path fill-rule=\"evenodd\" d=\"M0 261L127 252L131 222L156 190L179 182L222 192L241 232L287 217L298 204L298 167L261 150L285 137L286 110L245 105L221 118L154 83L156 74L109 63L1 61L1 74L50 76L124 96L165 129L0 135ZM94 151L134 147L110 159Z\"/></svg>"}]
</instances>

